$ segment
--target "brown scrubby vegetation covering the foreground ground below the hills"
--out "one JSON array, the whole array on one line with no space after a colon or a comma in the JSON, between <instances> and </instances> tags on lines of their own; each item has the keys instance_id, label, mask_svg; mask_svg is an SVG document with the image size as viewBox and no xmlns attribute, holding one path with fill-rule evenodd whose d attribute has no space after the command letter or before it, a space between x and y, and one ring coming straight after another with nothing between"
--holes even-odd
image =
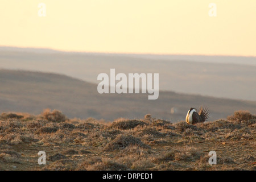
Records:
<instances>
[{"instance_id":1,"label":"brown scrubby vegetation covering the foreground ground below the hills","mask_svg":"<svg viewBox=\"0 0 256 182\"><path fill-rule=\"evenodd\" d=\"M255 115L247 111L196 125L150 114L112 123L68 119L54 110L2 114L0 169L255 170L255 126ZM212 150L217 165L210 166ZM38 164L39 151L46 152L46 165Z\"/></svg>"}]
</instances>

